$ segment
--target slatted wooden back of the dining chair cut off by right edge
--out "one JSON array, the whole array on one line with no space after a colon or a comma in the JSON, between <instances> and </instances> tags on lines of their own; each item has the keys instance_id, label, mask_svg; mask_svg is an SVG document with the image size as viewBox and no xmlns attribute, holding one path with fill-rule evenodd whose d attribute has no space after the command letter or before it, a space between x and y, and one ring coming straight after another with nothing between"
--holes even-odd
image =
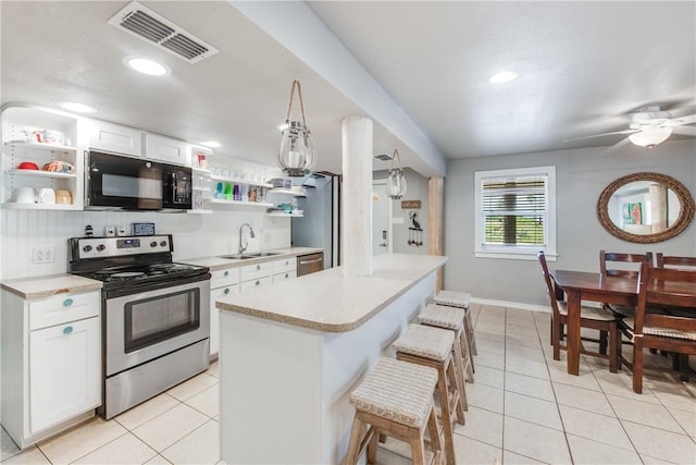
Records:
<instances>
[{"instance_id":1,"label":"slatted wooden back of the dining chair cut off by right edge","mask_svg":"<svg viewBox=\"0 0 696 465\"><path fill-rule=\"evenodd\" d=\"M681 311L678 316L650 313L650 306ZM643 333L644 326L696 331L696 270L641 266L635 332Z\"/></svg>"}]
</instances>

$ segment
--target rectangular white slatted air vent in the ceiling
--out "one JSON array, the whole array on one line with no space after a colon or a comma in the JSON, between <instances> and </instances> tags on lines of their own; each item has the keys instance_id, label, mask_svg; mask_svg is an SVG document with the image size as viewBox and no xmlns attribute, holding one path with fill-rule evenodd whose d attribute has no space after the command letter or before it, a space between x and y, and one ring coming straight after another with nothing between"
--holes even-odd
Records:
<instances>
[{"instance_id":1,"label":"rectangular white slatted air vent in the ceiling","mask_svg":"<svg viewBox=\"0 0 696 465\"><path fill-rule=\"evenodd\" d=\"M186 60L197 63L217 49L137 1L116 13L109 24Z\"/></svg>"}]
</instances>

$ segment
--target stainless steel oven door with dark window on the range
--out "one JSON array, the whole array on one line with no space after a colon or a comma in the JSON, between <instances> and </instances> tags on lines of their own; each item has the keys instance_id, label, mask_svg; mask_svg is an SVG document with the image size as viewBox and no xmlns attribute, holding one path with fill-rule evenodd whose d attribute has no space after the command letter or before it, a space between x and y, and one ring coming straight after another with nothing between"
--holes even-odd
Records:
<instances>
[{"instance_id":1,"label":"stainless steel oven door with dark window on the range","mask_svg":"<svg viewBox=\"0 0 696 465\"><path fill-rule=\"evenodd\" d=\"M107 298L105 376L210 336L210 280Z\"/></svg>"}]
</instances>

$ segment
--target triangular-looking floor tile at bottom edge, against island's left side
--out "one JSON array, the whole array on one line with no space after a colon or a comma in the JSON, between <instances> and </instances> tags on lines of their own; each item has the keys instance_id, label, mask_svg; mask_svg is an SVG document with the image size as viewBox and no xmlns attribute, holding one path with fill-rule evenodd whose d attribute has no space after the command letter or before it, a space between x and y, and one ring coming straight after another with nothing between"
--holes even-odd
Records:
<instances>
[{"instance_id":1,"label":"triangular-looking floor tile at bottom edge, against island's left side","mask_svg":"<svg viewBox=\"0 0 696 465\"><path fill-rule=\"evenodd\" d=\"M220 427L210 420L165 449L162 455L174 464L215 464L220 461Z\"/></svg>"}]
</instances>

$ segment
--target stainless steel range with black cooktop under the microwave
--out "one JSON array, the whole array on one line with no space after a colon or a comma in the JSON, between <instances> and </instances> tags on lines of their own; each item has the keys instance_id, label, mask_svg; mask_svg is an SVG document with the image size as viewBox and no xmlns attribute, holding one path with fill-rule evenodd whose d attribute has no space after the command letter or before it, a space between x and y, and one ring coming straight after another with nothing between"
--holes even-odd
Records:
<instances>
[{"instance_id":1,"label":"stainless steel range with black cooktop under the microwave","mask_svg":"<svg viewBox=\"0 0 696 465\"><path fill-rule=\"evenodd\" d=\"M172 261L172 236L69 240L70 271L103 282L104 418L204 371L210 272Z\"/></svg>"}]
</instances>

